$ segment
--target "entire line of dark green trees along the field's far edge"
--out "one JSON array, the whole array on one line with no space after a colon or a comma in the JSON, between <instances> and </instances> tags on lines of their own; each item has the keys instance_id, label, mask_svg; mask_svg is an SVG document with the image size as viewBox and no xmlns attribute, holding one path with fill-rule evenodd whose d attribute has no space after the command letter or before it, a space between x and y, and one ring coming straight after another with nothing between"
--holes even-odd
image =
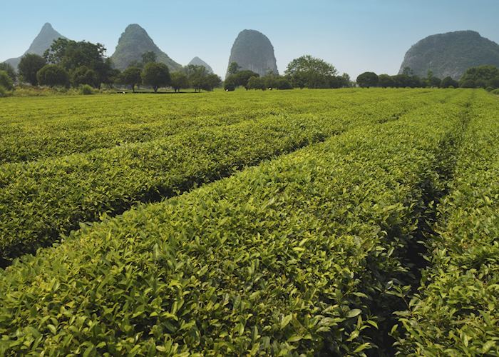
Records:
<instances>
[{"instance_id":1,"label":"entire line of dark green trees along the field's far edge","mask_svg":"<svg viewBox=\"0 0 499 357\"><path fill-rule=\"evenodd\" d=\"M157 56L149 51L142 54L141 61L135 61L124 71L113 68L106 57L106 48L102 44L92 44L88 41L72 41L57 39L43 56L26 54L22 57L16 74L14 68L6 63L0 64L0 91L14 89L14 83L29 83L32 86L73 86L101 89L104 84L108 88L126 86L135 91L139 86L148 86L153 91L170 87L175 92L192 88L195 91L212 91L222 86L222 79L209 73L204 66L189 65L180 71L170 73L168 66L156 61ZM228 75L223 82L226 91L234 91L237 87L247 90L267 89L336 89L351 86L363 88L484 88L494 90L499 88L499 69L495 66L478 66L465 71L459 81L450 76L439 79L428 71L422 78L413 74L406 67L401 74L375 74L364 72L356 81L351 81L346 73L339 74L336 68L310 55L293 59L287 65L283 76L269 71L264 76L254 71L241 69L239 64L232 62ZM1 95L1 92L0 92Z\"/></svg>"}]
</instances>

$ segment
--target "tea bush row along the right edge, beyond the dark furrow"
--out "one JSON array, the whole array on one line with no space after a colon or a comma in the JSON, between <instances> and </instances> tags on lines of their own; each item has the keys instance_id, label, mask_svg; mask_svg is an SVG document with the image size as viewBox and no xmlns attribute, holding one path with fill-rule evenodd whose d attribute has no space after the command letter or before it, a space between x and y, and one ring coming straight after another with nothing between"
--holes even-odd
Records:
<instances>
[{"instance_id":1,"label":"tea bush row along the right edge, beyond the dark furrow","mask_svg":"<svg viewBox=\"0 0 499 357\"><path fill-rule=\"evenodd\" d=\"M499 355L499 102L485 92L438 206L431 265L400 318L403 356Z\"/></svg>"}]
</instances>

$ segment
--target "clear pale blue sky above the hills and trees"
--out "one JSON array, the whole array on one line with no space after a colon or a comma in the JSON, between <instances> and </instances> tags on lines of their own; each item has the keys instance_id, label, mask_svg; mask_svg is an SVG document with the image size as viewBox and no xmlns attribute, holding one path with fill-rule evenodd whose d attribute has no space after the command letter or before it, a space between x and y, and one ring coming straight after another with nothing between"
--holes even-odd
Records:
<instances>
[{"instance_id":1,"label":"clear pale blue sky above the hills and trees","mask_svg":"<svg viewBox=\"0 0 499 357\"><path fill-rule=\"evenodd\" d=\"M175 61L199 56L222 77L242 29L269 37L281 73L312 54L353 79L395 74L407 49L431 34L471 29L499 43L499 0L25 0L1 9L0 61L23 54L45 22L104 44L109 56L136 23Z\"/></svg>"}]
</instances>

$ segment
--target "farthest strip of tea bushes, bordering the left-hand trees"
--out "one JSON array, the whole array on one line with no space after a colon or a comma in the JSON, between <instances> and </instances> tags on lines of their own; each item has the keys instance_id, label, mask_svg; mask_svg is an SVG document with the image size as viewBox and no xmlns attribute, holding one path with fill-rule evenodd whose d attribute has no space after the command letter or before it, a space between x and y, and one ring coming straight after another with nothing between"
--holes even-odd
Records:
<instances>
[{"instance_id":1,"label":"farthest strip of tea bushes, bordering the left-hand trees","mask_svg":"<svg viewBox=\"0 0 499 357\"><path fill-rule=\"evenodd\" d=\"M422 92L424 93L424 92ZM369 92L362 96L339 92L334 96L274 96L255 102L245 96L210 101L193 96L93 96L91 99L17 99L0 114L0 164L112 148L181 134L186 129L222 126L277 114L326 114L351 106L403 98L405 92ZM252 96L250 96L252 98ZM202 96L201 98L205 98ZM293 100L295 99L295 100ZM73 102L74 101L74 102ZM277 101L277 103L276 103ZM279 103L280 101L280 103ZM329 105L328 105L329 103ZM217 104L217 106L214 106ZM314 109L311 105L314 104Z\"/></svg>"}]
</instances>

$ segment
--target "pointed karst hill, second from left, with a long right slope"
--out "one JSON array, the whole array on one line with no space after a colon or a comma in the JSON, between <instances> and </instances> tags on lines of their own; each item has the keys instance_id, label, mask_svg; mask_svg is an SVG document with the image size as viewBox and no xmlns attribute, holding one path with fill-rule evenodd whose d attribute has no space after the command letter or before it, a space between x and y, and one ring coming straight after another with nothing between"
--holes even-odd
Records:
<instances>
[{"instance_id":1,"label":"pointed karst hill, second from left, with a long right slope","mask_svg":"<svg viewBox=\"0 0 499 357\"><path fill-rule=\"evenodd\" d=\"M121 34L114 54L111 56L115 68L126 69L133 62L142 61L142 55L145 52L153 51L157 58L156 61L166 64L170 71L178 71L182 66L170 59L168 54L161 51L150 38L148 33L138 24L130 24Z\"/></svg>"}]
</instances>

